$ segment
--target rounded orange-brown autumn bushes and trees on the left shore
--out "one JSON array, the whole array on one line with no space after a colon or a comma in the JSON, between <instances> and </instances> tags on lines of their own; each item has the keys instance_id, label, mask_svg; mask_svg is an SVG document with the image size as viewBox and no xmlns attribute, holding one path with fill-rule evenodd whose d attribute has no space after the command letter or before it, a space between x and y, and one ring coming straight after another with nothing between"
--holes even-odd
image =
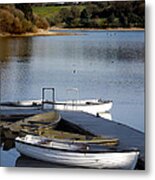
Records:
<instances>
[{"instance_id":1,"label":"rounded orange-brown autumn bushes and trees on the left shore","mask_svg":"<svg viewBox=\"0 0 155 180\"><path fill-rule=\"evenodd\" d=\"M1 33L37 32L38 28L47 29L48 27L46 18L34 14L31 4L0 5Z\"/></svg>"}]
</instances>

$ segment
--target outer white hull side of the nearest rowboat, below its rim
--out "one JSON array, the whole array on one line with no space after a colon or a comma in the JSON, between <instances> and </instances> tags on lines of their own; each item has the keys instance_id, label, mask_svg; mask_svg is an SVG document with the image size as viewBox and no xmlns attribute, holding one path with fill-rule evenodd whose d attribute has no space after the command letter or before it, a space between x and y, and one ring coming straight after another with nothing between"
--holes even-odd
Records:
<instances>
[{"instance_id":1,"label":"outer white hull side of the nearest rowboat, below its rim","mask_svg":"<svg viewBox=\"0 0 155 180\"><path fill-rule=\"evenodd\" d=\"M41 147L15 141L16 149L23 155L42 161L98 169L134 169L138 151L80 152Z\"/></svg>"}]
</instances>

